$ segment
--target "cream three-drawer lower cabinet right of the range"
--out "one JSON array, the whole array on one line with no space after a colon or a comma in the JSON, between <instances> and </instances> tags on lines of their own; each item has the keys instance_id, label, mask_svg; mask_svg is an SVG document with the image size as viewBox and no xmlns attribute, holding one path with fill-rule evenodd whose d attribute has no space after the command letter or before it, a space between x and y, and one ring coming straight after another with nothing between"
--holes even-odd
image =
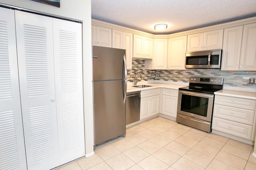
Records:
<instances>
[{"instance_id":1,"label":"cream three-drawer lower cabinet right of the range","mask_svg":"<svg viewBox=\"0 0 256 170\"><path fill-rule=\"evenodd\" d=\"M215 95L212 129L254 141L255 100Z\"/></svg>"}]
</instances>

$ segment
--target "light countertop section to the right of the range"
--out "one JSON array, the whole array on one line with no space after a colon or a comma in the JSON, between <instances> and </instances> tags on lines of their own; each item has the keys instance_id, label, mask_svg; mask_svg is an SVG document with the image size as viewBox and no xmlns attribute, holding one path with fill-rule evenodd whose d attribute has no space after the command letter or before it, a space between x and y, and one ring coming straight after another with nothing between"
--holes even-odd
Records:
<instances>
[{"instance_id":1,"label":"light countertop section to the right of the range","mask_svg":"<svg viewBox=\"0 0 256 170\"><path fill-rule=\"evenodd\" d=\"M219 90L219 91L215 92L214 94L256 100L255 92L244 92L244 91L223 89L223 90Z\"/></svg>"}]
</instances>

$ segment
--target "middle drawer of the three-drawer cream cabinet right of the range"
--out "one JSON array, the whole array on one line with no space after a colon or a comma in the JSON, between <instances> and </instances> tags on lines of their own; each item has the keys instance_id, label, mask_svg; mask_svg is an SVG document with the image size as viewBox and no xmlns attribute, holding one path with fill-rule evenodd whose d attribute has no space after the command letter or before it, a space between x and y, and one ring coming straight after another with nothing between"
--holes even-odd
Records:
<instances>
[{"instance_id":1,"label":"middle drawer of the three-drawer cream cabinet right of the range","mask_svg":"<svg viewBox=\"0 0 256 170\"><path fill-rule=\"evenodd\" d=\"M254 110L214 104L213 115L215 117L252 125Z\"/></svg>"}]
</instances>

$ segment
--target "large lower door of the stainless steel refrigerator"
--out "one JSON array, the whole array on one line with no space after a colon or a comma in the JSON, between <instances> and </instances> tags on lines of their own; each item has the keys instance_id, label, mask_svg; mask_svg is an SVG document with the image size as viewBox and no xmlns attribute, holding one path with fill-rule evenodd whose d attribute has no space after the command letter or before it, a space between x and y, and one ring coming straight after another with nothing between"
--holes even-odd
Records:
<instances>
[{"instance_id":1,"label":"large lower door of the stainless steel refrigerator","mask_svg":"<svg viewBox=\"0 0 256 170\"><path fill-rule=\"evenodd\" d=\"M124 80L93 82L94 146L126 133Z\"/></svg>"}]
</instances>

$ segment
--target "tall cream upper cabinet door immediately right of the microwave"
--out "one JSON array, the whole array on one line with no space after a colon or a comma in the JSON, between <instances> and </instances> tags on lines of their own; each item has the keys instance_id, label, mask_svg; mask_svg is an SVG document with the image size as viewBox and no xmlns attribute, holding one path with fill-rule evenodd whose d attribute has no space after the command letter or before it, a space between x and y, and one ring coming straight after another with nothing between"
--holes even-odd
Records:
<instances>
[{"instance_id":1,"label":"tall cream upper cabinet door immediately right of the microwave","mask_svg":"<svg viewBox=\"0 0 256 170\"><path fill-rule=\"evenodd\" d=\"M243 26L224 29L221 70L238 71L242 44Z\"/></svg>"}]
</instances>

